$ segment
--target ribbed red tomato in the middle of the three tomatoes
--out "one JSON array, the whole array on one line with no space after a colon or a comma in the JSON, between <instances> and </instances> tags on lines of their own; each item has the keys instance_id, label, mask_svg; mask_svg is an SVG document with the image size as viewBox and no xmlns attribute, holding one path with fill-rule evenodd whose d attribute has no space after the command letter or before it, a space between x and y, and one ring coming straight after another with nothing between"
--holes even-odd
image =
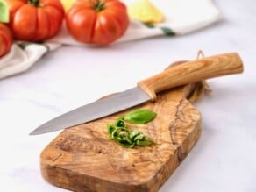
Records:
<instances>
[{"instance_id":1,"label":"ribbed red tomato in the middle of the three tomatoes","mask_svg":"<svg viewBox=\"0 0 256 192\"><path fill-rule=\"evenodd\" d=\"M6 0L14 38L42 41L60 32L64 9L60 0Z\"/></svg>"}]
</instances>

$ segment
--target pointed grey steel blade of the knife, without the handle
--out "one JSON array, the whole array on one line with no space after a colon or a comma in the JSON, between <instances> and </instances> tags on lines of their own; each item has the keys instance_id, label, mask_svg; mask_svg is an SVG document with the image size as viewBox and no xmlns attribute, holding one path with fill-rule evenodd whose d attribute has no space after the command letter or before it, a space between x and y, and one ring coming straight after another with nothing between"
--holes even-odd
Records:
<instances>
[{"instance_id":1,"label":"pointed grey steel blade of the knife, without the handle","mask_svg":"<svg viewBox=\"0 0 256 192\"><path fill-rule=\"evenodd\" d=\"M58 131L78 124L84 124L149 100L151 100L151 97L139 87L128 89L55 117L45 124L40 125L30 135Z\"/></svg>"}]
</instances>

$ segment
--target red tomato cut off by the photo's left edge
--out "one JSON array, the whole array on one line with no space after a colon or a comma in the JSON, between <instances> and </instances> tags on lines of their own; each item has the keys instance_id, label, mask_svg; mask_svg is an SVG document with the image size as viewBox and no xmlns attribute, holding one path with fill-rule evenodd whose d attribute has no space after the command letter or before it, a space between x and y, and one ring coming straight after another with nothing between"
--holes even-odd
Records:
<instances>
[{"instance_id":1,"label":"red tomato cut off by the photo's left edge","mask_svg":"<svg viewBox=\"0 0 256 192\"><path fill-rule=\"evenodd\" d=\"M0 23L0 57L10 51L12 42L11 30L7 25Z\"/></svg>"}]
</instances>

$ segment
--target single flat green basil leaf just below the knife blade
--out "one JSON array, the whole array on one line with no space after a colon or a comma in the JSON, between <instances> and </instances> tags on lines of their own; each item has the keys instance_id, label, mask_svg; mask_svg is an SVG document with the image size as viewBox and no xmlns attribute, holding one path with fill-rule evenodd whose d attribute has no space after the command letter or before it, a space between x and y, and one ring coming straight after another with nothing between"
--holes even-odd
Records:
<instances>
[{"instance_id":1,"label":"single flat green basil leaf just below the knife blade","mask_svg":"<svg viewBox=\"0 0 256 192\"><path fill-rule=\"evenodd\" d=\"M131 112L124 115L124 120L132 124L146 124L156 117L156 113L152 110L132 110Z\"/></svg>"}]
</instances>

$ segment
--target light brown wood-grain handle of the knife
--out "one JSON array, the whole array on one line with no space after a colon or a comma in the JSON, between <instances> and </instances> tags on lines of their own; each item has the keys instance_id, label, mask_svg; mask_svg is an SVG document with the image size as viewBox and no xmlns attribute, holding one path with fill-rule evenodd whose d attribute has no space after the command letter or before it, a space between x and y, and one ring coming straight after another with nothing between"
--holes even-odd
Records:
<instances>
[{"instance_id":1,"label":"light brown wood-grain handle of the knife","mask_svg":"<svg viewBox=\"0 0 256 192\"><path fill-rule=\"evenodd\" d=\"M163 90L212 77L239 74L243 71L243 61L238 53L224 53L168 68L158 75L138 82L138 86L155 100L156 94Z\"/></svg>"}]
</instances>

